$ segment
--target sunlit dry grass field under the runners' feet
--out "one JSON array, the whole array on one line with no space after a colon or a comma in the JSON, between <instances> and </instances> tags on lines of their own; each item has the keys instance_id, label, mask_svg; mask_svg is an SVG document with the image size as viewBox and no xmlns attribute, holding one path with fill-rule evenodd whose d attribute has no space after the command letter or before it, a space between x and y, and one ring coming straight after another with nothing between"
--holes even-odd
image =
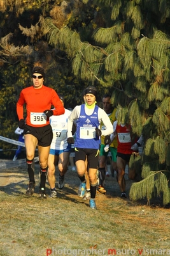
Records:
<instances>
[{"instance_id":1,"label":"sunlit dry grass field under the runners' feet","mask_svg":"<svg viewBox=\"0 0 170 256\"><path fill-rule=\"evenodd\" d=\"M59 173L57 172L57 177ZM0 170L1 256L170 255L169 206L161 200L120 198L118 184L106 177L106 195L97 193L97 211L77 196L79 179L68 171L58 198L25 195L25 168ZM127 180L127 191L131 182ZM50 188L46 186L46 193Z\"/></svg>"}]
</instances>

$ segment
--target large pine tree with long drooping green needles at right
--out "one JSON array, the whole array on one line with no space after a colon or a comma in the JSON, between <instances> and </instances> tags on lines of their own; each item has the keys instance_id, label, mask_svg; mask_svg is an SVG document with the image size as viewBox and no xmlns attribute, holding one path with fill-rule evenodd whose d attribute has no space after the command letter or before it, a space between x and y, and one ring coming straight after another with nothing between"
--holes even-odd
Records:
<instances>
[{"instance_id":1,"label":"large pine tree with long drooping green needles at right","mask_svg":"<svg viewBox=\"0 0 170 256\"><path fill-rule=\"evenodd\" d=\"M91 1L83 1L88 8ZM132 184L132 200L163 194L169 198L169 1L99 0L96 29L87 42L80 31L55 28L45 19L50 44L66 51L75 76L109 88L118 122L129 122L143 134L143 180ZM100 22L99 22L100 20ZM103 28L98 24L103 24ZM135 160L134 160L135 162ZM135 164L135 163L134 163Z\"/></svg>"}]
</instances>

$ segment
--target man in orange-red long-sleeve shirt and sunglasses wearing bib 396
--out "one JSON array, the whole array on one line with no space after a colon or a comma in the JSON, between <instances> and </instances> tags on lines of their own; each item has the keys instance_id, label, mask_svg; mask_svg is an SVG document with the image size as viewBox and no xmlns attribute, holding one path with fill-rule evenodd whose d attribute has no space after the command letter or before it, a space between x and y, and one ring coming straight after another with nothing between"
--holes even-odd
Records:
<instances>
[{"instance_id":1,"label":"man in orange-red long-sleeve shirt and sunglasses wearing bib 396","mask_svg":"<svg viewBox=\"0 0 170 256\"><path fill-rule=\"evenodd\" d=\"M29 173L29 187L26 195L33 195L34 180L34 154L38 145L40 165L39 197L46 198L45 183L48 170L48 155L52 142L52 127L49 118L52 115L64 114L64 107L59 96L52 88L43 85L45 70L34 67L32 70L33 85L20 92L17 102L17 115L20 129L24 129L27 171ZM51 107L55 108L51 110ZM24 121L24 106L27 117Z\"/></svg>"}]
</instances>

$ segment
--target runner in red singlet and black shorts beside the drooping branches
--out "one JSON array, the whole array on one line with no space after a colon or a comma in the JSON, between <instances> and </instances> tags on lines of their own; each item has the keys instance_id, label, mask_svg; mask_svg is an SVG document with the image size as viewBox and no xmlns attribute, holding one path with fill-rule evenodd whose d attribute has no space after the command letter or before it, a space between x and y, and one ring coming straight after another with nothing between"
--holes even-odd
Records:
<instances>
[{"instance_id":1,"label":"runner in red singlet and black shorts beside the drooping branches","mask_svg":"<svg viewBox=\"0 0 170 256\"><path fill-rule=\"evenodd\" d=\"M113 136L118 137L118 147L117 147L117 168L118 168L118 173L117 173L117 180L118 184L120 186L120 191L121 191L121 197L126 198L126 193L125 193L125 166L126 164L129 165L129 160L131 158L132 152L132 145L137 141L134 141L132 143L132 138L131 138L131 126L130 125L124 125L124 124L117 124L117 121L113 123ZM135 170L132 170L129 168L128 172L128 177L129 179L134 180L135 178Z\"/></svg>"}]
</instances>

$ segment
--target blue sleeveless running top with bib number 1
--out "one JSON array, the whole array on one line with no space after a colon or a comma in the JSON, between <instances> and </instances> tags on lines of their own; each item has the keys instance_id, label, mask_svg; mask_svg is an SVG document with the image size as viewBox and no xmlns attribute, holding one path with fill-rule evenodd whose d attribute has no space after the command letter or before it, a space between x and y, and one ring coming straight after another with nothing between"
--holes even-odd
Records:
<instances>
[{"instance_id":1,"label":"blue sleeveless running top with bib number 1","mask_svg":"<svg viewBox=\"0 0 170 256\"><path fill-rule=\"evenodd\" d=\"M96 136L95 129L99 127L98 106L92 115L85 113L85 104L81 105L80 117L76 120L76 140L74 147L99 149L101 140Z\"/></svg>"}]
</instances>

